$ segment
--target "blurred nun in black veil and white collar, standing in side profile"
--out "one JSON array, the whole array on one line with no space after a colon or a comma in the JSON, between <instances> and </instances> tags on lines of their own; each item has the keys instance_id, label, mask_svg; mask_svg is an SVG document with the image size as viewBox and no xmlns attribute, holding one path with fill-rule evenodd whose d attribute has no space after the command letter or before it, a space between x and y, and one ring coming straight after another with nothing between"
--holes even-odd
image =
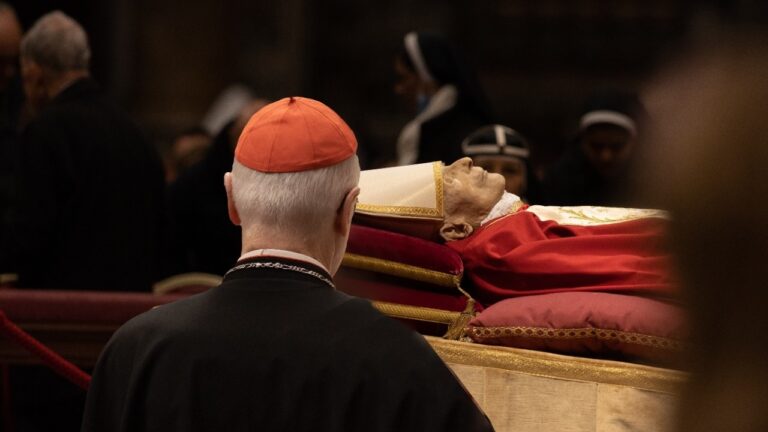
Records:
<instances>
[{"instance_id":1,"label":"blurred nun in black veil and white collar, standing in side profile","mask_svg":"<svg viewBox=\"0 0 768 432\"><path fill-rule=\"evenodd\" d=\"M474 72L442 36L406 34L395 72L395 92L417 113L397 139L398 165L451 163L464 137L492 120Z\"/></svg>"}]
</instances>

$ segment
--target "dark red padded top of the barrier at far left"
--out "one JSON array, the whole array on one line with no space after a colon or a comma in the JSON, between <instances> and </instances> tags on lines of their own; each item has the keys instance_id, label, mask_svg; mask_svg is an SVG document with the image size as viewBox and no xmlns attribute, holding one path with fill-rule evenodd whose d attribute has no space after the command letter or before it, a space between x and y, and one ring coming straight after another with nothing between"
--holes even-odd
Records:
<instances>
[{"instance_id":1,"label":"dark red padded top of the barrier at far left","mask_svg":"<svg viewBox=\"0 0 768 432\"><path fill-rule=\"evenodd\" d=\"M150 293L0 290L0 309L17 324L121 325L154 306L181 298Z\"/></svg>"}]
</instances>

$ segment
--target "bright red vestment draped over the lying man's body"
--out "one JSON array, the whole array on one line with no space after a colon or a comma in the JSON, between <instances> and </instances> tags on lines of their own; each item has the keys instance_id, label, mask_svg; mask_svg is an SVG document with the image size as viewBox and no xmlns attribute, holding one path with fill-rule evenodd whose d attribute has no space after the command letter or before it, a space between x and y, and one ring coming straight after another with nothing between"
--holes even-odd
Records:
<instances>
[{"instance_id":1,"label":"bright red vestment draped over the lying man's body","mask_svg":"<svg viewBox=\"0 0 768 432\"><path fill-rule=\"evenodd\" d=\"M521 211L447 245L461 255L474 294L488 303L563 291L670 297L666 226L660 218L569 226Z\"/></svg>"}]
</instances>

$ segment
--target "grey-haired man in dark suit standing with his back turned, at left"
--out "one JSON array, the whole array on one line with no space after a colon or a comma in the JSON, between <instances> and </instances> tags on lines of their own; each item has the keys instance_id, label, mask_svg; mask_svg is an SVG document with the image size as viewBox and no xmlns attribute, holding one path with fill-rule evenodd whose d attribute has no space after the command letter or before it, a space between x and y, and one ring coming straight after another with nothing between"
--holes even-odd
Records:
<instances>
[{"instance_id":1,"label":"grey-haired man in dark suit standing with his back turned, at left","mask_svg":"<svg viewBox=\"0 0 768 432\"><path fill-rule=\"evenodd\" d=\"M82 27L61 12L21 43L35 113L18 148L11 247L19 285L148 291L163 173L156 149L90 78Z\"/></svg>"}]
</instances>

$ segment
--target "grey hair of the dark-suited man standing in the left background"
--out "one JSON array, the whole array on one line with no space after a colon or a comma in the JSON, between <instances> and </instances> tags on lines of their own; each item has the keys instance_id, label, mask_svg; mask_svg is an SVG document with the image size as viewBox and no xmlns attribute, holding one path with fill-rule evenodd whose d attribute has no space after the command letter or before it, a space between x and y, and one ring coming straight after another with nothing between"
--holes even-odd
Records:
<instances>
[{"instance_id":1,"label":"grey hair of the dark-suited man standing in the left background","mask_svg":"<svg viewBox=\"0 0 768 432\"><path fill-rule=\"evenodd\" d=\"M21 40L21 57L54 73L87 70L91 48L83 27L54 11L38 19Z\"/></svg>"}]
</instances>

